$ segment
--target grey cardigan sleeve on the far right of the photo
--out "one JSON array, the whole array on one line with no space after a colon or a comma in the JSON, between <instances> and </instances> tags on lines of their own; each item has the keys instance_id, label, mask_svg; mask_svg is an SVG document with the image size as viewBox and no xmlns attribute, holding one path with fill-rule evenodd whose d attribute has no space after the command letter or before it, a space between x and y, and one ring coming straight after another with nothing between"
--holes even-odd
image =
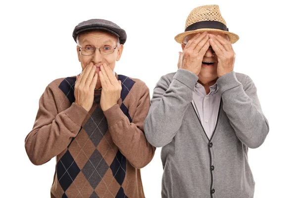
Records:
<instances>
[{"instance_id":1,"label":"grey cardigan sleeve on the far right of the photo","mask_svg":"<svg viewBox=\"0 0 297 198\"><path fill-rule=\"evenodd\" d=\"M242 84L233 71L221 76L217 84L222 94L223 109L238 139L249 148L261 146L269 132L269 124L250 77L246 76Z\"/></svg>"}]
</instances>

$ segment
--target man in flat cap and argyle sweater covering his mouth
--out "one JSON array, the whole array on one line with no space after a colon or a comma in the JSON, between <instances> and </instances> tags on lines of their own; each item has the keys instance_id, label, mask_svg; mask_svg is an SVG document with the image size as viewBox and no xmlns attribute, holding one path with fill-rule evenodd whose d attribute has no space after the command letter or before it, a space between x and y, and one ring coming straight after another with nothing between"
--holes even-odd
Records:
<instances>
[{"instance_id":1,"label":"man in flat cap and argyle sweater covering his mouth","mask_svg":"<svg viewBox=\"0 0 297 198\"><path fill-rule=\"evenodd\" d=\"M51 198L144 198L140 168L155 151L143 130L150 99L144 82L114 72L126 33L91 19L73 38L83 71L48 85L27 154L35 165L56 157Z\"/></svg>"}]
</instances>

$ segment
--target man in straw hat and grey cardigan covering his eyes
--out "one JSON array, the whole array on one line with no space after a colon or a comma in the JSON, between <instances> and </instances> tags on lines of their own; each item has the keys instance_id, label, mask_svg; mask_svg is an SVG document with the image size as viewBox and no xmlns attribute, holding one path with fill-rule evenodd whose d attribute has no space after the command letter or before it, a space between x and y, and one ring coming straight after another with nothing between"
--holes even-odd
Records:
<instances>
[{"instance_id":1,"label":"man in straw hat and grey cardigan covering his eyes","mask_svg":"<svg viewBox=\"0 0 297 198\"><path fill-rule=\"evenodd\" d=\"M154 88L144 128L163 147L162 198L252 198L248 148L269 126L250 77L233 71L232 45L217 5L195 8L185 32L177 72Z\"/></svg>"}]
</instances>

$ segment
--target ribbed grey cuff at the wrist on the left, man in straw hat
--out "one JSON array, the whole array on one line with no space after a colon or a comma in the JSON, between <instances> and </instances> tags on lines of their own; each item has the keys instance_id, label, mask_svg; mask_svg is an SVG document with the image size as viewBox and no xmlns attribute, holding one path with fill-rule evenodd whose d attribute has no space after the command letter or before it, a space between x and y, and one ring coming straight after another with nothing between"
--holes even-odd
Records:
<instances>
[{"instance_id":1,"label":"ribbed grey cuff at the wrist on the left, man in straw hat","mask_svg":"<svg viewBox=\"0 0 297 198\"><path fill-rule=\"evenodd\" d=\"M195 85L198 81L198 76L191 71L186 69L178 69L173 79L180 81L181 83L185 84L191 90L194 90Z\"/></svg>"}]
</instances>

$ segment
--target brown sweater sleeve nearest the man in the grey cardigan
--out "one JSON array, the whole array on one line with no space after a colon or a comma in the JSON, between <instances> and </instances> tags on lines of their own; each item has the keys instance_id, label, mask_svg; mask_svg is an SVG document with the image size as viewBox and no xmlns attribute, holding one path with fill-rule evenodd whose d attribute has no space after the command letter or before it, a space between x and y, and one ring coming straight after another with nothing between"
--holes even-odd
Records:
<instances>
[{"instance_id":1,"label":"brown sweater sleeve nearest the man in the grey cardigan","mask_svg":"<svg viewBox=\"0 0 297 198\"><path fill-rule=\"evenodd\" d=\"M114 144L135 168L145 167L155 152L155 147L146 139L143 127L150 106L146 84L140 93L138 101L134 103L137 107L131 123L118 104L103 112Z\"/></svg>"}]
</instances>

